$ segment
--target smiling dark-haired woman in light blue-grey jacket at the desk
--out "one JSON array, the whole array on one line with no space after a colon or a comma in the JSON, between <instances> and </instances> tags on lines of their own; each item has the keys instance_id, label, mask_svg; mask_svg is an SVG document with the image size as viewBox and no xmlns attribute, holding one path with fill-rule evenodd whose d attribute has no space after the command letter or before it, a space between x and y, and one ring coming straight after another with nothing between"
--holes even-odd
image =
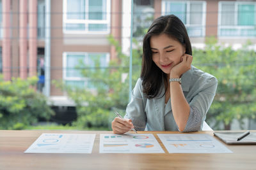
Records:
<instances>
[{"instance_id":1,"label":"smiling dark-haired woman in light blue-grey jacket at the desk","mask_svg":"<svg viewBox=\"0 0 256 170\"><path fill-rule=\"evenodd\" d=\"M200 131L218 81L191 66L186 27L175 15L161 16L143 39L141 75L132 90L125 118L116 117L113 132Z\"/></svg>"}]
</instances>

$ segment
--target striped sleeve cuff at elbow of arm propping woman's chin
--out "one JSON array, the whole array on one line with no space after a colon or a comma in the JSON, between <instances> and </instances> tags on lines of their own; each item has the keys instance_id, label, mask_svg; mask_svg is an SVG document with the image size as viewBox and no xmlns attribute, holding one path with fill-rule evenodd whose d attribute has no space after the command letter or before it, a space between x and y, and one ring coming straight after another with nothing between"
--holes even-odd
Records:
<instances>
[{"instance_id":1,"label":"striped sleeve cuff at elbow of arm propping woman's chin","mask_svg":"<svg viewBox=\"0 0 256 170\"><path fill-rule=\"evenodd\" d=\"M202 114L195 106L190 106L189 118L184 131L182 132L192 132L200 131L202 125Z\"/></svg>"}]
</instances>

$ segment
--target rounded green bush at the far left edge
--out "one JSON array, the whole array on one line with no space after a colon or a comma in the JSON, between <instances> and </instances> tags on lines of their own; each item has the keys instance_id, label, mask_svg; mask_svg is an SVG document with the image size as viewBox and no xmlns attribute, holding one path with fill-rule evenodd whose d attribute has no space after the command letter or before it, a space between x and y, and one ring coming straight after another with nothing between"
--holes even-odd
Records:
<instances>
[{"instance_id":1,"label":"rounded green bush at the far left edge","mask_svg":"<svg viewBox=\"0 0 256 170\"><path fill-rule=\"evenodd\" d=\"M0 76L0 129L24 129L38 118L54 115L45 96L32 88L37 81L36 77L4 81Z\"/></svg>"}]
</instances>

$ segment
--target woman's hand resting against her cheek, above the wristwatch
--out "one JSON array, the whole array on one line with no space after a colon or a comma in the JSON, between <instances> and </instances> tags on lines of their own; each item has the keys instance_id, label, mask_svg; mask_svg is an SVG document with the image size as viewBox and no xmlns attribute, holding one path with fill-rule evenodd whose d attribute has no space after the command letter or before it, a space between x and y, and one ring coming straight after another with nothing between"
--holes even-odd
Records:
<instances>
[{"instance_id":1,"label":"woman's hand resting against her cheek, above the wristwatch","mask_svg":"<svg viewBox=\"0 0 256 170\"><path fill-rule=\"evenodd\" d=\"M191 68L193 57L189 54L184 54L180 58L180 63L174 66L170 72L170 78L180 78L180 76Z\"/></svg>"}]
</instances>

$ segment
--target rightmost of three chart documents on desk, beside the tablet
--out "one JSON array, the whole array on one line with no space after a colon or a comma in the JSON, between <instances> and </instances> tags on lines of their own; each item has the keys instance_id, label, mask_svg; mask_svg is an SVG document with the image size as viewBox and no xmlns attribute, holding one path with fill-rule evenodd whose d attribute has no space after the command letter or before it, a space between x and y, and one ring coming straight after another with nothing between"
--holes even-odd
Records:
<instances>
[{"instance_id":1,"label":"rightmost of three chart documents on desk, beside the tablet","mask_svg":"<svg viewBox=\"0 0 256 170\"><path fill-rule=\"evenodd\" d=\"M169 153L232 153L209 134L157 134Z\"/></svg>"}]
</instances>

